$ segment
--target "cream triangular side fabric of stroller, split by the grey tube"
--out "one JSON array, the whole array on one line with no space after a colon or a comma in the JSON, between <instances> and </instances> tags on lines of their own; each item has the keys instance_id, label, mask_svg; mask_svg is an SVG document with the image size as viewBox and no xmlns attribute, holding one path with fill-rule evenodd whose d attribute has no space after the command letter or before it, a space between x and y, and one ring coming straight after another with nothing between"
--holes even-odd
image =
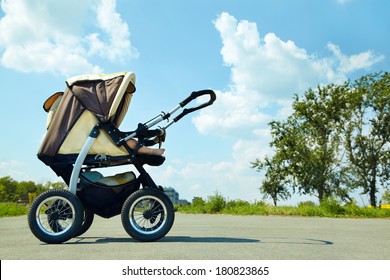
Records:
<instances>
[{"instance_id":1,"label":"cream triangular side fabric of stroller, split by the grey tube","mask_svg":"<svg viewBox=\"0 0 390 280\"><path fill-rule=\"evenodd\" d=\"M84 146L92 128L98 123L95 115L85 110L77 120L64 143L61 145L59 154L78 154ZM93 143L88 154L104 154L109 156L126 156L128 152L121 146L116 146L107 133L100 131L99 136Z\"/></svg>"}]
</instances>

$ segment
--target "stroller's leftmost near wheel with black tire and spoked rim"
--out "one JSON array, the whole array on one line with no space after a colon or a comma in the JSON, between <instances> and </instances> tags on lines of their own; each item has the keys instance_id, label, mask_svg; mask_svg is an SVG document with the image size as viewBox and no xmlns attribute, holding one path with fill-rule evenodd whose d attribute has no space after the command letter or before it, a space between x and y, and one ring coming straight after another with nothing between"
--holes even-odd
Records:
<instances>
[{"instance_id":1,"label":"stroller's leftmost near wheel with black tire and spoked rim","mask_svg":"<svg viewBox=\"0 0 390 280\"><path fill-rule=\"evenodd\" d=\"M84 207L79 198L68 190L52 189L34 200L27 219L36 238L48 244L59 244L80 232Z\"/></svg>"}]
</instances>

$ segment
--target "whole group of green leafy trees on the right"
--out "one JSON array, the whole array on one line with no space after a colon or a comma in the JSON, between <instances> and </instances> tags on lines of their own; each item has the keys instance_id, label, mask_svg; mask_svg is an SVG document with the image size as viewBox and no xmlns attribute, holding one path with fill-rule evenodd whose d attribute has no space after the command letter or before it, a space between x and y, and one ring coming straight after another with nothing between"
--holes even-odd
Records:
<instances>
[{"instance_id":1,"label":"whole group of green leafy trees on the right","mask_svg":"<svg viewBox=\"0 0 390 280\"><path fill-rule=\"evenodd\" d=\"M376 206L378 184L389 186L389 98L389 73L296 95L293 113L270 123L274 155L252 163L265 171L261 192L276 205L290 190L322 202L359 188Z\"/></svg>"}]
</instances>

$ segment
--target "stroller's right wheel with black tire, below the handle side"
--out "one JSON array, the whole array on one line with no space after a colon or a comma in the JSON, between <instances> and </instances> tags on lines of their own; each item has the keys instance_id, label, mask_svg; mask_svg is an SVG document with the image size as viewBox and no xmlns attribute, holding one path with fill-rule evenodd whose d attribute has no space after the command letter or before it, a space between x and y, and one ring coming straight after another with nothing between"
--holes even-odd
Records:
<instances>
[{"instance_id":1,"label":"stroller's right wheel with black tire, below the handle side","mask_svg":"<svg viewBox=\"0 0 390 280\"><path fill-rule=\"evenodd\" d=\"M121 218L124 229L131 237L152 242L169 232L175 220L175 210L164 192L145 188L126 199Z\"/></svg>"}]
</instances>

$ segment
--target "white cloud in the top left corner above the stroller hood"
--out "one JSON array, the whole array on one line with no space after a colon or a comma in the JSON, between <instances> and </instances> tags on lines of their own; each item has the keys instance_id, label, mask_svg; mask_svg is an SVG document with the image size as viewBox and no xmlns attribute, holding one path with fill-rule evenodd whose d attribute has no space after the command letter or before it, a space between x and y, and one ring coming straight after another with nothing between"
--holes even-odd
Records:
<instances>
[{"instance_id":1,"label":"white cloud in the top left corner above the stroller hood","mask_svg":"<svg viewBox=\"0 0 390 280\"><path fill-rule=\"evenodd\" d=\"M114 0L3 0L1 8L0 63L7 68L96 73L103 71L93 62L97 56L124 62L138 55ZM96 32L90 33L91 28Z\"/></svg>"}]
</instances>

